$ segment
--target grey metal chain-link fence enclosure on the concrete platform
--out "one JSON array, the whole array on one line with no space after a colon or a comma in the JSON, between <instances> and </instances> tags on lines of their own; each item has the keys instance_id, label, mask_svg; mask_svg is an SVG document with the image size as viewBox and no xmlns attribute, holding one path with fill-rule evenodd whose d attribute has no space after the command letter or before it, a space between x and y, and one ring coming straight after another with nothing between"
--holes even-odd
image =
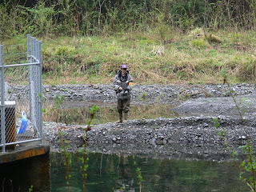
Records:
<instances>
[{"instance_id":1,"label":"grey metal chain-link fence enclosure on the concrete platform","mask_svg":"<svg viewBox=\"0 0 256 192\"><path fill-rule=\"evenodd\" d=\"M30 35L26 40L26 44L21 45L0 45L0 147L3 153L8 146L15 148L23 142L42 143L42 42ZM14 64L14 58L20 60ZM14 86L19 87L18 93L13 92Z\"/></svg>"}]
</instances>

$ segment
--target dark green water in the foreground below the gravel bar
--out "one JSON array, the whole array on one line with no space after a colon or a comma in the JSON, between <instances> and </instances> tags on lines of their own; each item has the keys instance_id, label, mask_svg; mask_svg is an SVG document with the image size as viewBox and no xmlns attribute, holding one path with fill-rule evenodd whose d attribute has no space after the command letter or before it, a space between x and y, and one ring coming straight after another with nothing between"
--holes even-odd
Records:
<instances>
[{"instance_id":1,"label":"dark green water in the foreground below the gravel bar","mask_svg":"<svg viewBox=\"0 0 256 192\"><path fill-rule=\"evenodd\" d=\"M187 161L140 158L116 154L89 154L86 191L139 191L136 168L142 172L143 192L242 192L249 188L239 177L233 162ZM134 165L136 162L136 165ZM61 154L50 154L52 191L66 190L66 166ZM79 154L72 154L70 189L82 191L82 172Z\"/></svg>"}]
</instances>

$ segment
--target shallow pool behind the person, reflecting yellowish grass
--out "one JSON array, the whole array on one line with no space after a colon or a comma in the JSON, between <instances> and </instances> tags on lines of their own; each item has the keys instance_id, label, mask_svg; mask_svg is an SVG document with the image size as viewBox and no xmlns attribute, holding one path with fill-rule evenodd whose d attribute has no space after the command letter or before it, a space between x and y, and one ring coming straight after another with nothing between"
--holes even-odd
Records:
<instances>
[{"instance_id":1,"label":"shallow pool behind the person, reflecting yellowish grass","mask_svg":"<svg viewBox=\"0 0 256 192\"><path fill-rule=\"evenodd\" d=\"M70 103L71 105L71 103ZM72 106L72 105L71 105ZM73 105L70 108L61 108L58 110L58 121L67 124L86 125L90 119L90 106ZM56 111L51 110L52 106L46 106L46 113L43 114L44 121L56 121ZM171 108L171 105L143 105L131 106L129 119L142 119L142 118L174 118L178 117ZM118 120L118 112L114 103L110 106L101 106L96 113L94 123L101 124L105 122L116 122Z\"/></svg>"}]
</instances>

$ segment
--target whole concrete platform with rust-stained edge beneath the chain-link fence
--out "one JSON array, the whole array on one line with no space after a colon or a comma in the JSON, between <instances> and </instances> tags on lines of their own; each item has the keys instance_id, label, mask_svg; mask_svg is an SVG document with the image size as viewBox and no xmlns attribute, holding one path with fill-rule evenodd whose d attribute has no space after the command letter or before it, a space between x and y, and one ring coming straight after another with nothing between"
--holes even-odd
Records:
<instances>
[{"instance_id":1,"label":"whole concrete platform with rust-stained edge beneath the chain-link fence","mask_svg":"<svg viewBox=\"0 0 256 192\"><path fill-rule=\"evenodd\" d=\"M50 192L50 146L26 142L0 152L0 170L4 191L29 191L33 186L33 191Z\"/></svg>"}]
</instances>

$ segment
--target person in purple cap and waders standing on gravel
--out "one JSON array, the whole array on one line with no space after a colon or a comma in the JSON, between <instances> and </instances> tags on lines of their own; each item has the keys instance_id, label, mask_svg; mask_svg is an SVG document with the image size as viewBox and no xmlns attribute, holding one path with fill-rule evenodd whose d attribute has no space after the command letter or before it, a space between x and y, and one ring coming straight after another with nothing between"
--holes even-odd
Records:
<instances>
[{"instance_id":1,"label":"person in purple cap and waders standing on gravel","mask_svg":"<svg viewBox=\"0 0 256 192\"><path fill-rule=\"evenodd\" d=\"M114 77L114 90L118 98L118 123L121 123L128 118L128 112L130 110L130 91L133 85L133 78L129 74L126 65L121 66L121 70ZM123 115L123 116L122 116Z\"/></svg>"}]
</instances>

